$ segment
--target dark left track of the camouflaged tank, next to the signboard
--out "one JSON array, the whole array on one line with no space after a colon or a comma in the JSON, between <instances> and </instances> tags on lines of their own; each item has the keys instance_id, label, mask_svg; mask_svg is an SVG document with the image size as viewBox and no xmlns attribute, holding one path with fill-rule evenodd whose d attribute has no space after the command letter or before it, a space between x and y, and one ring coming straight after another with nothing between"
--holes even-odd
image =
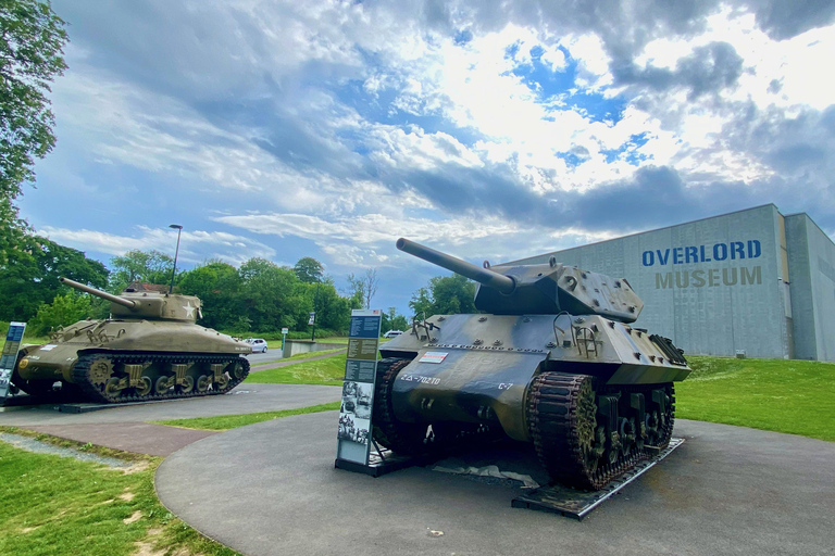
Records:
<instances>
[{"instance_id":1,"label":"dark left track of the camouflaged tank, next to the signboard","mask_svg":"<svg viewBox=\"0 0 835 556\"><path fill-rule=\"evenodd\" d=\"M400 422L395 418L391 389L397 374L411 359L389 357L377 362L377 384L374 392L374 441L397 454L412 455L426 452L432 443L427 425Z\"/></svg>"}]
</instances>

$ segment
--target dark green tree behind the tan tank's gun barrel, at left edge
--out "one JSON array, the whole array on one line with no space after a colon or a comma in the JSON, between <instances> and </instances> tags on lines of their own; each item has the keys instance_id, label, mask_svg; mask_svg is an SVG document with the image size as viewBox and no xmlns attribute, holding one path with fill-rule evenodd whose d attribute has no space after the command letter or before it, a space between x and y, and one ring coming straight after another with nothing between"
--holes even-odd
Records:
<instances>
[{"instance_id":1,"label":"dark green tree behind the tan tank's gun barrel, at left edge","mask_svg":"<svg viewBox=\"0 0 835 556\"><path fill-rule=\"evenodd\" d=\"M42 303L71 291L58 281L61 276L100 289L108 283L108 269L98 261L54 241L26 236L13 264L0 265L0 320L28 320Z\"/></svg>"}]
</instances>

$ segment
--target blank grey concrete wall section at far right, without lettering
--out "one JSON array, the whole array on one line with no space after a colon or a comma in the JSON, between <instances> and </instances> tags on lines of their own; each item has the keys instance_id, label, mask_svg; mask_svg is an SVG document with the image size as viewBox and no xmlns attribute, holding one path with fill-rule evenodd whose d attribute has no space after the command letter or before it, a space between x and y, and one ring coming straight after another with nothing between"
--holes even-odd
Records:
<instances>
[{"instance_id":1,"label":"blank grey concrete wall section at far right, without lettering","mask_svg":"<svg viewBox=\"0 0 835 556\"><path fill-rule=\"evenodd\" d=\"M797 357L835 361L835 243L806 214L786 216L786 236Z\"/></svg>"}]
</instances>

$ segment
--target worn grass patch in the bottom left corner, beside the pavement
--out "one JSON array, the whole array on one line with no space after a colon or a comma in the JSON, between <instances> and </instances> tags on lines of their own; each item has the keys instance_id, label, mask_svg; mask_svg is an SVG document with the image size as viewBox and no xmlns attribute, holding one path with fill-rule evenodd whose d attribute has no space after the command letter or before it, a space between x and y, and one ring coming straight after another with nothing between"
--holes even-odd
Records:
<instances>
[{"instance_id":1,"label":"worn grass patch in the bottom left corner, beside the pavement","mask_svg":"<svg viewBox=\"0 0 835 556\"><path fill-rule=\"evenodd\" d=\"M141 458L141 470L124 473L0 442L0 554L123 556L140 548L144 554L237 554L160 504L153 473L161 460Z\"/></svg>"}]
</instances>

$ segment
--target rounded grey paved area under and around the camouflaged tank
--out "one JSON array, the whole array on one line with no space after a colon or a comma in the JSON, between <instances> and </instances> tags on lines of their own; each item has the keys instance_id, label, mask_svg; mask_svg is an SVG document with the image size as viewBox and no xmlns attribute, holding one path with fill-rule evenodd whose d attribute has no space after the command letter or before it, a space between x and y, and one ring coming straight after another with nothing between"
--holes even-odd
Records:
<instances>
[{"instance_id":1,"label":"rounded grey paved area under and around the camouflaged tank","mask_svg":"<svg viewBox=\"0 0 835 556\"><path fill-rule=\"evenodd\" d=\"M250 556L835 551L835 443L680 421L683 446L577 522L511 508L520 491L507 484L429 468L378 479L334 469L337 420L302 415L196 442L159 468L160 500ZM531 456L516 456L521 467Z\"/></svg>"}]
</instances>

